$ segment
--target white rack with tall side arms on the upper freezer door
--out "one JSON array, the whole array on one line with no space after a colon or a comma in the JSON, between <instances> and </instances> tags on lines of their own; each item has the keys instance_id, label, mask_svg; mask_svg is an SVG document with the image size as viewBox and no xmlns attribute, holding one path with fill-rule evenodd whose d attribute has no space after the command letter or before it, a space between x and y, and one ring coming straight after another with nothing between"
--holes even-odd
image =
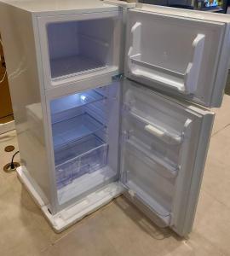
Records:
<instances>
[{"instance_id":1,"label":"white rack with tall side arms on the upper freezer door","mask_svg":"<svg viewBox=\"0 0 230 256\"><path fill-rule=\"evenodd\" d=\"M132 39L140 40L140 32L138 32L138 26L141 23L137 22L132 27ZM135 35L137 33L137 35ZM166 87L178 90L184 94L192 94L197 89L198 83L198 70L201 65L203 53L204 53L204 39L203 34L198 34L193 40L192 44L192 56L190 60L183 60L181 63L166 62L157 58L149 58L141 51L141 49L135 49L136 44L134 41L129 48L128 53L128 65L129 72L133 75L152 81L153 83L162 84ZM171 51L180 51L180 45L176 45L177 49L170 49ZM133 55L133 52L136 53ZM141 54L142 52L142 54ZM163 53L165 59L167 58L166 52ZM169 53L172 55L172 53ZM189 54L190 55L190 54ZM184 55L183 57L185 57ZM159 56L158 56L159 58ZM155 63L151 63L154 61ZM176 65L175 65L176 64ZM173 69L174 68L174 69Z\"/></svg>"}]
</instances>

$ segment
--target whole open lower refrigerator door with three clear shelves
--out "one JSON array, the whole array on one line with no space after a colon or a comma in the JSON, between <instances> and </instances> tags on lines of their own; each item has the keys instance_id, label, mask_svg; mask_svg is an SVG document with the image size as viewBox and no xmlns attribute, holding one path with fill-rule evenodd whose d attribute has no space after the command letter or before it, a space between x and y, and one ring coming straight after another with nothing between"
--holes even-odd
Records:
<instances>
[{"instance_id":1,"label":"whole open lower refrigerator door with three clear shelves","mask_svg":"<svg viewBox=\"0 0 230 256\"><path fill-rule=\"evenodd\" d=\"M124 79L120 182L137 207L180 236L193 227L213 119Z\"/></svg>"}]
</instances>

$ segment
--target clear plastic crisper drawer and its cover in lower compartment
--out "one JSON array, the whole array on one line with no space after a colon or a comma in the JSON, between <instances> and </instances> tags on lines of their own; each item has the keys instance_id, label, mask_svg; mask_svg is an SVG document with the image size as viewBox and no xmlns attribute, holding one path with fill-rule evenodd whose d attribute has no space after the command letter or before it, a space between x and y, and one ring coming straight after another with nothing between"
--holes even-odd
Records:
<instances>
[{"instance_id":1,"label":"clear plastic crisper drawer and its cover in lower compartment","mask_svg":"<svg viewBox=\"0 0 230 256\"><path fill-rule=\"evenodd\" d=\"M95 135L83 137L77 142L55 151L55 170L58 188L86 173L106 166L108 145Z\"/></svg>"}]
</instances>

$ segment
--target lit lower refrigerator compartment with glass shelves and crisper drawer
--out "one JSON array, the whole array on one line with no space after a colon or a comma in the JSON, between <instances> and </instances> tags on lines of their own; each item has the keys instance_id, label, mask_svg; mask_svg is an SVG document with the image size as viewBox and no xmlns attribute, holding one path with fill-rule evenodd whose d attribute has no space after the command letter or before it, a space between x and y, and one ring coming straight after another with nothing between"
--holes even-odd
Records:
<instances>
[{"instance_id":1,"label":"lit lower refrigerator compartment with glass shelves and crisper drawer","mask_svg":"<svg viewBox=\"0 0 230 256\"><path fill-rule=\"evenodd\" d=\"M54 99L50 110L59 203L117 180L118 84Z\"/></svg>"}]
</instances>

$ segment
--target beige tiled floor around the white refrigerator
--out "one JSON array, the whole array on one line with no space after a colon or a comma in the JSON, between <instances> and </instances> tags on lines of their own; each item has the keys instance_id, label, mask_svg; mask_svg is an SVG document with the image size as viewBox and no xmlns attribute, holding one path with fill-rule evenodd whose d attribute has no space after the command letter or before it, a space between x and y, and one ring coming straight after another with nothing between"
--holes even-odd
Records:
<instances>
[{"instance_id":1,"label":"beige tiled floor around the white refrigerator","mask_svg":"<svg viewBox=\"0 0 230 256\"><path fill-rule=\"evenodd\" d=\"M124 197L57 235L15 173L0 172L0 255L230 255L230 96L214 109L216 122L194 229L188 240L158 229ZM0 136L17 148L14 131ZM19 156L16 157L19 159Z\"/></svg>"}]
</instances>

